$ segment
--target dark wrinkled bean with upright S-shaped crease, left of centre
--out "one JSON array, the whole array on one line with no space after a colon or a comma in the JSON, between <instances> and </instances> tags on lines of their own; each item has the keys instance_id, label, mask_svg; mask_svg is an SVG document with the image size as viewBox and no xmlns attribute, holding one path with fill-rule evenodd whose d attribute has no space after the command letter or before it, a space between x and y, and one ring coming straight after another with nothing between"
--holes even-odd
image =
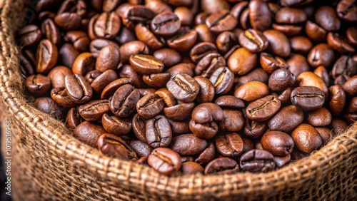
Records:
<instances>
[{"instance_id":1,"label":"dark wrinkled bean with upright S-shaped crease, left of centre","mask_svg":"<svg viewBox=\"0 0 357 201\"><path fill-rule=\"evenodd\" d=\"M111 99L111 112L119 118L124 118L134 112L140 99L139 91L130 84L119 87Z\"/></svg>"}]
</instances>

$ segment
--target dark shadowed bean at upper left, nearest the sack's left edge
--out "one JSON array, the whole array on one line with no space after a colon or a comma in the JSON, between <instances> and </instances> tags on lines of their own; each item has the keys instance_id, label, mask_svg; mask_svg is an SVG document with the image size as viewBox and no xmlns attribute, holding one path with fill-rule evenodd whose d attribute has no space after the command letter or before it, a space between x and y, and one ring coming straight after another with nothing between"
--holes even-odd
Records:
<instances>
[{"instance_id":1,"label":"dark shadowed bean at upper left, nearest the sack's left edge","mask_svg":"<svg viewBox=\"0 0 357 201\"><path fill-rule=\"evenodd\" d=\"M19 31L19 41L21 46L33 46L41 40L41 30L39 26L29 24Z\"/></svg>"}]
</instances>

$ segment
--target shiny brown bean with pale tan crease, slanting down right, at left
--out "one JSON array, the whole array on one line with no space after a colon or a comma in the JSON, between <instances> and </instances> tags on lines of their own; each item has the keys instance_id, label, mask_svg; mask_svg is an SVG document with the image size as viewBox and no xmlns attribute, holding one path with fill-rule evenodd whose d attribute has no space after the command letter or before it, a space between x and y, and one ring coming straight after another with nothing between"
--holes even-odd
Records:
<instances>
[{"instance_id":1,"label":"shiny brown bean with pale tan crease, slanting down right, at left","mask_svg":"<svg viewBox=\"0 0 357 201\"><path fill-rule=\"evenodd\" d=\"M85 103L91 96L93 91L84 76L74 74L64 78L64 87L74 103Z\"/></svg>"}]
</instances>

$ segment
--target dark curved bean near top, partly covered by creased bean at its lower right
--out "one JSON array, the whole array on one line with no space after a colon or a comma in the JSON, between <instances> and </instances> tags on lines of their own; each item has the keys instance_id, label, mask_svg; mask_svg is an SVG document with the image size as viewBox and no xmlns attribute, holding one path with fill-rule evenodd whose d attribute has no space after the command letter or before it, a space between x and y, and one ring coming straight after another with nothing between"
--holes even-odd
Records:
<instances>
[{"instance_id":1,"label":"dark curved bean near top, partly covered by creased bean at its lower right","mask_svg":"<svg viewBox=\"0 0 357 201\"><path fill-rule=\"evenodd\" d=\"M154 18L155 14L151 9L145 6L135 5L130 6L121 15L121 21L123 21L124 26L130 30L134 30L136 24L149 25L150 21Z\"/></svg>"}]
</instances>

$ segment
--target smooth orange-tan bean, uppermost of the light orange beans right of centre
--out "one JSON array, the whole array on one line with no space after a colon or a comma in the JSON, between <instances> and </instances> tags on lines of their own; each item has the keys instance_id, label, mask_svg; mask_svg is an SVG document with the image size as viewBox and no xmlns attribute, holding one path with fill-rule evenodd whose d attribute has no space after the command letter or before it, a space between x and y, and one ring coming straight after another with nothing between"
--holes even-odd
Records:
<instances>
[{"instance_id":1,"label":"smooth orange-tan bean, uppermost of the light orange beans right of centre","mask_svg":"<svg viewBox=\"0 0 357 201\"><path fill-rule=\"evenodd\" d=\"M251 53L246 48L238 48L229 56L227 65L234 74L243 76L256 66L256 58L256 53Z\"/></svg>"}]
</instances>

